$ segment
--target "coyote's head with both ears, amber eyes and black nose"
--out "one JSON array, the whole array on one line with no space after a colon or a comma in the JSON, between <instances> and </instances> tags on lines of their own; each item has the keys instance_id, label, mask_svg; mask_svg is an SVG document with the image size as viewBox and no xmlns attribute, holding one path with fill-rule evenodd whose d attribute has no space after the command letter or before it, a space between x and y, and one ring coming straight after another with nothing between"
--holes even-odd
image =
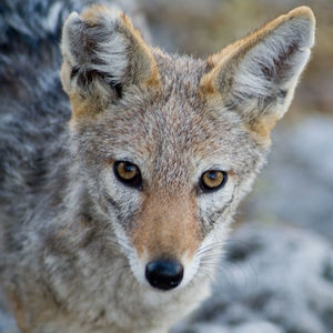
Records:
<instances>
[{"instance_id":1,"label":"coyote's head with both ears, amber eyes and black nose","mask_svg":"<svg viewBox=\"0 0 333 333\"><path fill-rule=\"evenodd\" d=\"M299 8L203 61L151 49L108 8L68 18L70 129L94 209L140 283L171 290L211 274L313 31Z\"/></svg>"}]
</instances>

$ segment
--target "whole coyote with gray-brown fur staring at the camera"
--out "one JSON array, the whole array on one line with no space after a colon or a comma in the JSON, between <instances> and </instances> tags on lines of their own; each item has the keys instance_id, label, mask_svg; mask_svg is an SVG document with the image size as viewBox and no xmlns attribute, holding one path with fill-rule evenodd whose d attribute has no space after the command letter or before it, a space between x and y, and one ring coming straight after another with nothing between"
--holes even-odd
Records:
<instances>
[{"instance_id":1,"label":"whole coyote with gray-brown fur staring at the camera","mask_svg":"<svg viewBox=\"0 0 333 333\"><path fill-rule=\"evenodd\" d=\"M20 330L168 331L209 295L232 215L310 58L311 9L205 60L151 48L109 7L72 12L68 97L57 39L38 22L30 34L6 24L0 278Z\"/></svg>"}]
</instances>

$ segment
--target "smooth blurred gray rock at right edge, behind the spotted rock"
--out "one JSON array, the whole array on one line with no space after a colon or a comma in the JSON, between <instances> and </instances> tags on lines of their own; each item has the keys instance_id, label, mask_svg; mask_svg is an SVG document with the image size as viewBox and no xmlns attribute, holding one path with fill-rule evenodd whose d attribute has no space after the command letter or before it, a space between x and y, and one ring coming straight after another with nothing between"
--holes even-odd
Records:
<instances>
[{"instance_id":1,"label":"smooth blurred gray rock at right edge, behind the spotted rock","mask_svg":"<svg viewBox=\"0 0 333 333\"><path fill-rule=\"evenodd\" d=\"M273 135L246 219L284 221L333 240L333 118L316 115Z\"/></svg>"}]
</instances>

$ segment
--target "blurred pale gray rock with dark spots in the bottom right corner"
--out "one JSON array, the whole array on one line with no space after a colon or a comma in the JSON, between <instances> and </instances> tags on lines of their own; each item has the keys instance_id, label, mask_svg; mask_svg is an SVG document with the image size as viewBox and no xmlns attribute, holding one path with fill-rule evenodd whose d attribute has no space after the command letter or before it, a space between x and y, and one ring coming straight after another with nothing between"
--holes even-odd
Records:
<instances>
[{"instance_id":1,"label":"blurred pale gray rock with dark spots in the bottom right corner","mask_svg":"<svg viewBox=\"0 0 333 333\"><path fill-rule=\"evenodd\" d=\"M332 333L333 249L300 228L232 235L213 295L173 333Z\"/></svg>"}]
</instances>

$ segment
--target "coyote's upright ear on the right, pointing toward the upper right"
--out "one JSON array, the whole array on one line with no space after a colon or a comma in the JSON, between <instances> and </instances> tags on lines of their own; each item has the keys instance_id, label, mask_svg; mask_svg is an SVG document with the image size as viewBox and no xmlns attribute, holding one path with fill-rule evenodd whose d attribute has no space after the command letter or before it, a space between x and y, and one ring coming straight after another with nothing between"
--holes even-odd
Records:
<instances>
[{"instance_id":1,"label":"coyote's upright ear on the right, pointing toward the upper right","mask_svg":"<svg viewBox=\"0 0 333 333\"><path fill-rule=\"evenodd\" d=\"M202 78L208 99L241 113L246 124L269 137L287 110L314 43L315 19L300 7L209 58Z\"/></svg>"}]
</instances>

